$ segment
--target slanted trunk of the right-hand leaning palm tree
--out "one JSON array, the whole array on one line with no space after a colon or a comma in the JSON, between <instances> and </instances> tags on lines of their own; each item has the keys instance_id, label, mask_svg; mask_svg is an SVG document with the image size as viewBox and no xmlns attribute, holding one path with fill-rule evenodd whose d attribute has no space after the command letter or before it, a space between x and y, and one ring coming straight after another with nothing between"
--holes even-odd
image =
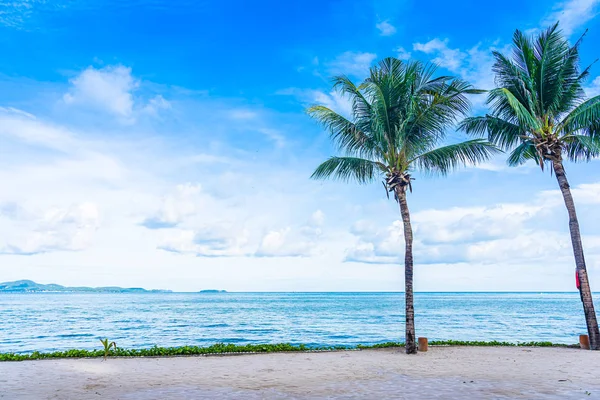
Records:
<instances>
[{"instance_id":1,"label":"slanted trunk of the right-hand leaning palm tree","mask_svg":"<svg viewBox=\"0 0 600 400\"><path fill-rule=\"evenodd\" d=\"M590 348L592 350L600 350L600 331L598 330L598 321L596 320L596 312L594 311L592 290L590 289L587 269L585 267L581 233L579 232L579 222L577 221L577 214L575 213L575 203L573 202L573 196L571 196L571 189L562 162L555 160L552 162L552 166L554 167L554 173L556 174L560 191L565 200L567 211L569 212L571 243L573 244L573 253L575 254L576 273L579 277L579 294L581 296L581 302L583 303L583 312L585 314L585 322L590 338Z\"/></svg>"}]
</instances>

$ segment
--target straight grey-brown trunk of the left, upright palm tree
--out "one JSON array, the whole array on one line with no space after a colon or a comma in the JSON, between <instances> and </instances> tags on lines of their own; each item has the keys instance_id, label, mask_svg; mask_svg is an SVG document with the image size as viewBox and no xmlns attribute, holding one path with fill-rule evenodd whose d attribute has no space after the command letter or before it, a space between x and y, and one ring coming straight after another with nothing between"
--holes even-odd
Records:
<instances>
[{"instance_id":1,"label":"straight grey-brown trunk of the left, upright palm tree","mask_svg":"<svg viewBox=\"0 0 600 400\"><path fill-rule=\"evenodd\" d=\"M400 214L404 223L404 295L406 304L406 354L415 354L417 345L415 343L415 306L413 298L413 259L412 259L412 226L410 225L410 213L406 203L405 187L396 189L396 196L400 204Z\"/></svg>"}]
</instances>

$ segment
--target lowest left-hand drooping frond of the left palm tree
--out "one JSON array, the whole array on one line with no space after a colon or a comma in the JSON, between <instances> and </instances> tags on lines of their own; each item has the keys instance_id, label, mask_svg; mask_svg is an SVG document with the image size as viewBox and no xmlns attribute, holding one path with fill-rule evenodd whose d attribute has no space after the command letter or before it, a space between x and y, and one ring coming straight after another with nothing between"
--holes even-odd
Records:
<instances>
[{"instance_id":1,"label":"lowest left-hand drooping frond of the left palm tree","mask_svg":"<svg viewBox=\"0 0 600 400\"><path fill-rule=\"evenodd\" d=\"M385 165L356 157L331 157L317 167L312 179L340 179L358 183L372 182L377 173L385 171Z\"/></svg>"}]
</instances>

